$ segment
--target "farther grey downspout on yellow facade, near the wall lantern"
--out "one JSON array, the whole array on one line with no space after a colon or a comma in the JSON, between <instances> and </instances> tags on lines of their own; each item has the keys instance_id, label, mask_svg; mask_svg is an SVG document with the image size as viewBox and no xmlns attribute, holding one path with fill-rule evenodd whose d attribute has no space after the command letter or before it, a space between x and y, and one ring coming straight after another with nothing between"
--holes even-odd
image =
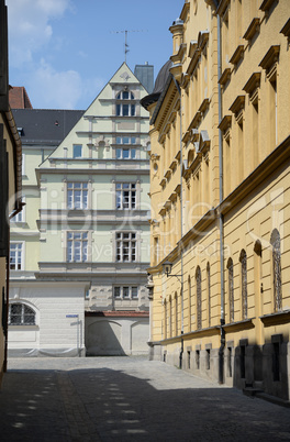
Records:
<instances>
[{"instance_id":1,"label":"farther grey downspout on yellow facade, near the wall lantern","mask_svg":"<svg viewBox=\"0 0 290 442\"><path fill-rule=\"evenodd\" d=\"M182 198L182 112L181 112L181 89L180 86L178 85L176 78L174 77L174 81L176 85L176 88L179 93L179 100L180 100L180 236L182 239L183 236L183 198ZM180 251L180 266L181 266L181 272L180 272L180 278L181 278L181 347L180 347L180 353L179 353L179 368L182 368L182 358L183 358L183 332L185 332L185 324L183 324L183 247L181 245L181 251Z\"/></svg>"}]
</instances>

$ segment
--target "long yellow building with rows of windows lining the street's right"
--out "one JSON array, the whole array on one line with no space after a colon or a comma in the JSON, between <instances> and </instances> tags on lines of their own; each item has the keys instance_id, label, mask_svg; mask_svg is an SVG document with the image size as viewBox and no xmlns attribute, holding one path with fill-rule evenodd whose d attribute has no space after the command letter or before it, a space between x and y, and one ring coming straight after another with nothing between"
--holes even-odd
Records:
<instances>
[{"instance_id":1,"label":"long yellow building with rows of windows lining the street's right","mask_svg":"<svg viewBox=\"0 0 290 442\"><path fill-rule=\"evenodd\" d=\"M142 101L152 357L286 400L289 16L288 0L186 1L172 56Z\"/></svg>"}]
</instances>

